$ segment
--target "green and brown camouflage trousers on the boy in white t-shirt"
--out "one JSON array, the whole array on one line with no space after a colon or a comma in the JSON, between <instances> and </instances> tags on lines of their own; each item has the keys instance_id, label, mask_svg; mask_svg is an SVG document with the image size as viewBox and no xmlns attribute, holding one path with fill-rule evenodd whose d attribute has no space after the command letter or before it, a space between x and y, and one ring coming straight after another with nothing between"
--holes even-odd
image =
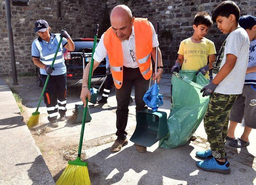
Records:
<instances>
[{"instance_id":1,"label":"green and brown camouflage trousers on the boy in white t-shirt","mask_svg":"<svg viewBox=\"0 0 256 185\"><path fill-rule=\"evenodd\" d=\"M228 132L229 113L236 101L237 94L213 93L204 116L204 129L212 150L217 159L225 158L225 138Z\"/></svg>"}]
</instances>

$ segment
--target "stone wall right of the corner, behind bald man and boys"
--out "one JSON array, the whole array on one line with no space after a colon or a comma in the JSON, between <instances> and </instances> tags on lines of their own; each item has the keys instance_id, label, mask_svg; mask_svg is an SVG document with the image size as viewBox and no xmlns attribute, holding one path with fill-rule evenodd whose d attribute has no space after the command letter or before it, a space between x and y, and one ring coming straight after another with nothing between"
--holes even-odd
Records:
<instances>
[{"instance_id":1,"label":"stone wall right of the corner, behind bald man and boys","mask_svg":"<svg viewBox=\"0 0 256 185\"><path fill-rule=\"evenodd\" d=\"M212 11L222 1L220 0L108 0L109 11L118 4L125 4L132 10L133 16L148 18L155 25L160 23L159 42L165 72L175 63L180 41L193 34L193 20L197 12ZM255 0L236 0L241 14L256 16ZM218 51L227 35L223 35L214 24L206 38L214 41Z\"/></svg>"}]
</instances>

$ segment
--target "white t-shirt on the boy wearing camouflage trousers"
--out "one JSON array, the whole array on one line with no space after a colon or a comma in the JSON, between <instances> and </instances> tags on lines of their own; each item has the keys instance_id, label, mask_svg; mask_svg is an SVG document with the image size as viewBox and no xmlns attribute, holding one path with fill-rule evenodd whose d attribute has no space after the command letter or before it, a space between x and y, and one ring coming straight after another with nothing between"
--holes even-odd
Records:
<instances>
[{"instance_id":1,"label":"white t-shirt on the boy wearing camouflage trousers","mask_svg":"<svg viewBox=\"0 0 256 185\"><path fill-rule=\"evenodd\" d=\"M244 79L249 58L249 37L243 28L237 28L232 31L227 39L224 48L223 59L220 68L226 63L226 55L233 54L237 57L236 65L228 76L219 83L214 93L220 94L241 94L244 87ZM218 57L217 57L218 58ZM216 62L214 63L216 65ZM215 66L216 67L216 66ZM217 67L218 68L218 67ZM218 71L212 71L212 77L215 78Z\"/></svg>"}]
</instances>

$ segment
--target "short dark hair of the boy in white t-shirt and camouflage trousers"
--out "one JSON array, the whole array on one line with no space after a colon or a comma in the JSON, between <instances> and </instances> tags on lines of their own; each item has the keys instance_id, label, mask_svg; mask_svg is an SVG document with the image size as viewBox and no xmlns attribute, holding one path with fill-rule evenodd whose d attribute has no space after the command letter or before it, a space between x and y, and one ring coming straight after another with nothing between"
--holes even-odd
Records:
<instances>
[{"instance_id":1,"label":"short dark hair of the boy in white t-shirt and camouflage trousers","mask_svg":"<svg viewBox=\"0 0 256 185\"><path fill-rule=\"evenodd\" d=\"M212 20L216 22L218 16L228 18L230 14L234 14L236 16L236 22L238 22L240 18L240 9L233 1L224 1L215 8L212 13Z\"/></svg>"}]
</instances>

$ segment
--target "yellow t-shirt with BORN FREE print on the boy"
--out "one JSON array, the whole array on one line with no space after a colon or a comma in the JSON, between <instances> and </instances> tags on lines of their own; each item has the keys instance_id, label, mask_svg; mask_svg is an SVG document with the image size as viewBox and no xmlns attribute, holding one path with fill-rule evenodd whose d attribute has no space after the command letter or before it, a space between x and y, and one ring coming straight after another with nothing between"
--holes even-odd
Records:
<instances>
[{"instance_id":1,"label":"yellow t-shirt with BORN FREE print on the boy","mask_svg":"<svg viewBox=\"0 0 256 185\"><path fill-rule=\"evenodd\" d=\"M183 55L182 70L198 71L207 65L208 56L216 54L215 46L209 39L203 38L202 42L194 43L191 38L181 41L178 54ZM210 79L209 71L205 77Z\"/></svg>"}]
</instances>

